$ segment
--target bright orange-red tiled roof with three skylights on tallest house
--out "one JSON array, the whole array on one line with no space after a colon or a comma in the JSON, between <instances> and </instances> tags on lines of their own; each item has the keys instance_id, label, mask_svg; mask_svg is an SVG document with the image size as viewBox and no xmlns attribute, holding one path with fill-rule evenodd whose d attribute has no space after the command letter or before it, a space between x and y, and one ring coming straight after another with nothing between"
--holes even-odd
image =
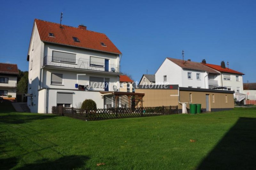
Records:
<instances>
[{"instance_id":1,"label":"bright orange-red tiled roof with three skylights on tallest house","mask_svg":"<svg viewBox=\"0 0 256 170\"><path fill-rule=\"evenodd\" d=\"M122 54L105 34L66 25L60 27L60 24L40 19L35 19L35 22L43 42ZM54 37L49 36L49 33L53 33ZM73 37L77 37L80 42L75 42ZM101 43L106 46L102 46Z\"/></svg>"}]
</instances>

